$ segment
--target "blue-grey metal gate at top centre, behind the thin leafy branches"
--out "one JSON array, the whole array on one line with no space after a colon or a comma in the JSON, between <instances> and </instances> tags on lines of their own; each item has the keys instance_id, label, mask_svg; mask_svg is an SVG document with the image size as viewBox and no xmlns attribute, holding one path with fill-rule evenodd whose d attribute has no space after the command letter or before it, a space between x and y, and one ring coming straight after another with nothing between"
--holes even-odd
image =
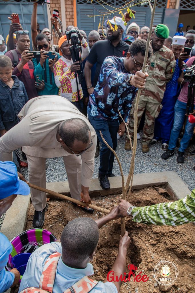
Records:
<instances>
[{"instance_id":1,"label":"blue-grey metal gate at top centre, behind the thin leafy branches","mask_svg":"<svg viewBox=\"0 0 195 293\"><path fill-rule=\"evenodd\" d=\"M126 1L128 2L128 1ZM153 0L151 1L153 2ZM164 11L166 8L166 0L158 0L157 1L157 7L155 11L154 16L154 24L163 23L164 18ZM113 8L111 8L108 5L105 5L104 8L98 4L96 1L91 4L91 1L89 0L77 0L77 26L79 29L84 30L87 35L91 30L97 30L100 17L91 17L89 18L88 15L98 15L102 13L106 13L110 9L113 10L115 8L119 8L121 6L124 6L125 1L124 0L107 0L106 4L111 5ZM140 3L140 0L134 0L134 3L131 2L131 6L133 4ZM150 18L151 18L151 10L150 7L146 2L143 2L141 4L138 4L136 6L133 6L132 9L136 11L135 19L132 19L129 21L127 25L129 25L131 22L136 22L140 28L144 25L149 26L150 25ZM120 16L120 14L115 13L115 16ZM106 20L107 16L105 16ZM113 14L108 13L108 18L113 18Z\"/></svg>"}]
</instances>

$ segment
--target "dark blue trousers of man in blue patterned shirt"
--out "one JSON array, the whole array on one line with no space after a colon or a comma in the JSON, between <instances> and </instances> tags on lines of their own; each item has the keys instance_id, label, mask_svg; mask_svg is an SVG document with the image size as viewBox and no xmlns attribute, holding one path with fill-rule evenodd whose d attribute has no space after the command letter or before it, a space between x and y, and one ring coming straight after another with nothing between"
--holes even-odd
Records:
<instances>
[{"instance_id":1,"label":"dark blue trousers of man in blue patterned shirt","mask_svg":"<svg viewBox=\"0 0 195 293\"><path fill-rule=\"evenodd\" d=\"M113 169L113 163L114 163L114 154L113 152L108 149L106 144L103 142L100 130L103 135L103 138L106 140L106 142L113 148L113 150L116 150L117 147L117 132L119 127L119 121L113 120L104 120L101 118L96 118L90 115L89 111L87 111L87 114L89 116L89 121L94 127L97 137L101 141L101 149L99 154L99 173L101 175L110 175L112 173Z\"/></svg>"}]
</instances>

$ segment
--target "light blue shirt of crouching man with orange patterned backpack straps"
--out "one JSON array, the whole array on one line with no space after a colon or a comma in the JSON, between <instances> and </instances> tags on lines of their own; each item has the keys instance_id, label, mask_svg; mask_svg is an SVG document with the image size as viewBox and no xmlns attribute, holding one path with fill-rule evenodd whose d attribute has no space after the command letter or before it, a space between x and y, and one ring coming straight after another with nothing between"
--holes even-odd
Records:
<instances>
[{"instance_id":1,"label":"light blue shirt of crouching man with orange patterned backpack straps","mask_svg":"<svg viewBox=\"0 0 195 293\"><path fill-rule=\"evenodd\" d=\"M48 256L54 252L62 253L61 243L53 242L44 244L32 253L20 283L19 292L28 287L39 288L39 281L42 275L44 264ZM65 265L62 261L62 258L60 257L56 270L53 293L62 293L66 289L73 286L84 276L90 276L93 274L94 270L91 263L88 263L87 267L84 269L75 269ZM111 282L98 282L98 284L90 292L118 293L116 286Z\"/></svg>"}]
</instances>

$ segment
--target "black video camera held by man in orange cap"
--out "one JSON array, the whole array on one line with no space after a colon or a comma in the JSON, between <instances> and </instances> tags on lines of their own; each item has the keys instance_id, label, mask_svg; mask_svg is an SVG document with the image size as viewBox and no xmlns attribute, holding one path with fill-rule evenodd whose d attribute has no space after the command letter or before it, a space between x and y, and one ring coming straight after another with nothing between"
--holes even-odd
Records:
<instances>
[{"instance_id":1,"label":"black video camera held by man in orange cap","mask_svg":"<svg viewBox=\"0 0 195 293\"><path fill-rule=\"evenodd\" d=\"M68 41L71 41L71 46L70 46L70 53L71 53L71 57L73 59L73 62L80 62L80 68L81 68L81 57L79 55L79 52L81 51L81 35L79 30L77 30L77 28L72 28L71 30L68 30L66 32L66 37ZM78 75L78 79L79 79L79 84L81 84L82 79L83 79L83 71L77 70L75 72L75 77L76 77L76 81L77 81L77 76Z\"/></svg>"}]
</instances>

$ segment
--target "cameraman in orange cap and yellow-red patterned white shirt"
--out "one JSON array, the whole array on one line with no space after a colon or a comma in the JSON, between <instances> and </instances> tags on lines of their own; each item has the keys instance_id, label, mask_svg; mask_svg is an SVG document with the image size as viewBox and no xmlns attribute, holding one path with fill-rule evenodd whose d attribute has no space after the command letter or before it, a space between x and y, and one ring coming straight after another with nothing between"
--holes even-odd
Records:
<instances>
[{"instance_id":1,"label":"cameraman in orange cap and yellow-red patterned white shirt","mask_svg":"<svg viewBox=\"0 0 195 293\"><path fill-rule=\"evenodd\" d=\"M71 29L67 32L67 34L69 34L69 32L71 41L67 40L67 35L63 35L58 43L60 47L60 55L62 57L54 65L55 83L59 88L59 96L67 98L80 110L80 112L82 112L83 92L80 84L82 80L80 59L84 60L89 55L89 47L87 41L84 38L80 40L80 33L77 28ZM78 47L78 57L76 62L73 61L71 55L72 46L70 47L70 42L73 43L73 37L75 38L76 42L80 42L80 46L75 45L76 49ZM81 50L81 52L78 52L79 50ZM75 56L73 55L73 57Z\"/></svg>"}]
</instances>

